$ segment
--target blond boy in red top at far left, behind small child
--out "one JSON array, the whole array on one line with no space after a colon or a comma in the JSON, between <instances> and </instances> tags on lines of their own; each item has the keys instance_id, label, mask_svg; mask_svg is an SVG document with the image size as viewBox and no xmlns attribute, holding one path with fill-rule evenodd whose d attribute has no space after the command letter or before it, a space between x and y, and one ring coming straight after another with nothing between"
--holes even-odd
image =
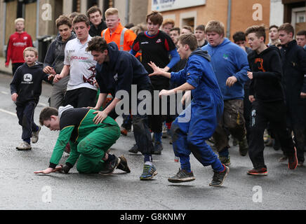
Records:
<instances>
[{"instance_id":1,"label":"blond boy in red top at far left, behind small child","mask_svg":"<svg viewBox=\"0 0 306 224\"><path fill-rule=\"evenodd\" d=\"M23 50L27 47L32 47L32 38L27 34L25 29L25 20L23 18L17 18L15 20L15 34L12 34L8 39L8 47L6 49L6 67L12 60L13 75L20 65L25 60L23 59Z\"/></svg>"}]
</instances>

